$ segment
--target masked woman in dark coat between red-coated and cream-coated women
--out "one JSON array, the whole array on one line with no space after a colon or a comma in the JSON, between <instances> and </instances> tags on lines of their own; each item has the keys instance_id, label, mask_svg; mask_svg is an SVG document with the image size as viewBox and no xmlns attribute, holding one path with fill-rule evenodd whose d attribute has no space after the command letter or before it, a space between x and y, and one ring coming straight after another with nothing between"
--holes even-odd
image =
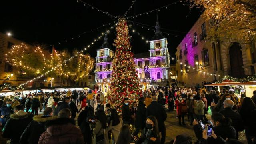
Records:
<instances>
[{"instance_id":1,"label":"masked woman in dark coat between red-coated and cream-coated women","mask_svg":"<svg viewBox=\"0 0 256 144\"><path fill-rule=\"evenodd\" d=\"M188 100L186 101L186 104L188 106L188 120L190 120L189 126L191 126L194 118L196 117L194 108L193 108L193 106L196 105L196 100L194 100L192 93L188 94Z\"/></svg>"}]
</instances>

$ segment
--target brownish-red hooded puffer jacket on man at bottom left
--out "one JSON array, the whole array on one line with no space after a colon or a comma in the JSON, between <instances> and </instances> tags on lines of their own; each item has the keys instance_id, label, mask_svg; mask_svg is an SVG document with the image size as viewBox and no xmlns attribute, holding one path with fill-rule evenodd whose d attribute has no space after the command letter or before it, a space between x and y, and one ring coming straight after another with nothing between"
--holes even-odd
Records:
<instances>
[{"instance_id":1,"label":"brownish-red hooded puffer jacket on man at bottom left","mask_svg":"<svg viewBox=\"0 0 256 144\"><path fill-rule=\"evenodd\" d=\"M38 144L84 144L84 138L75 121L70 118L57 118L46 122Z\"/></svg>"}]
</instances>

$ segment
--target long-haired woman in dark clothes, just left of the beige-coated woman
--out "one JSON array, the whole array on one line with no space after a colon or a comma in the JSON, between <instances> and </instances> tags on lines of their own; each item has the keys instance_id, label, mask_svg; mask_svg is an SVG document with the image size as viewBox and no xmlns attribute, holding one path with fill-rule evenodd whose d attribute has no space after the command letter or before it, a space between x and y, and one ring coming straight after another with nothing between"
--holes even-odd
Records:
<instances>
[{"instance_id":1,"label":"long-haired woman in dark clothes, just left of the beige-coated woman","mask_svg":"<svg viewBox=\"0 0 256 144\"><path fill-rule=\"evenodd\" d=\"M106 127L107 116L104 110L99 109L96 112L95 129L92 132L92 134L94 135L94 140L96 140L97 144L104 144L104 130L106 129Z\"/></svg>"}]
</instances>

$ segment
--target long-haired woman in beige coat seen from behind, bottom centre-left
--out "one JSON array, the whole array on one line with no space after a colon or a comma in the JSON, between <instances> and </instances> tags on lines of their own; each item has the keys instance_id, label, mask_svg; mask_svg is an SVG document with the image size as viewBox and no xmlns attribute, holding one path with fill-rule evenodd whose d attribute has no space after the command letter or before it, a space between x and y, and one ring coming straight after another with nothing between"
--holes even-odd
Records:
<instances>
[{"instance_id":1,"label":"long-haired woman in beige coat seen from behind, bottom centre-left","mask_svg":"<svg viewBox=\"0 0 256 144\"><path fill-rule=\"evenodd\" d=\"M105 143L109 144L108 141L108 131L112 132L112 139L114 140L114 143L118 139L118 135L120 132L120 129L122 127L122 122L120 121L119 115L116 111L116 109L112 108L110 110L110 121L108 122L108 126L105 130L104 138L105 138Z\"/></svg>"}]
</instances>

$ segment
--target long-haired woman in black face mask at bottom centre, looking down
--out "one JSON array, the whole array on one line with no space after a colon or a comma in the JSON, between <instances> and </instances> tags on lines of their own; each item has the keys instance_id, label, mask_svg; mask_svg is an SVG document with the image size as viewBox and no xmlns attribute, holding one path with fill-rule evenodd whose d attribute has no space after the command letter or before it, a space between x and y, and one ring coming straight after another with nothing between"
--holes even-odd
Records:
<instances>
[{"instance_id":1,"label":"long-haired woman in black face mask at bottom centre, looking down","mask_svg":"<svg viewBox=\"0 0 256 144\"><path fill-rule=\"evenodd\" d=\"M134 141L137 144L160 144L160 134L156 117L147 117L146 128L142 130L140 138L134 136Z\"/></svg>"}]
</instances>

